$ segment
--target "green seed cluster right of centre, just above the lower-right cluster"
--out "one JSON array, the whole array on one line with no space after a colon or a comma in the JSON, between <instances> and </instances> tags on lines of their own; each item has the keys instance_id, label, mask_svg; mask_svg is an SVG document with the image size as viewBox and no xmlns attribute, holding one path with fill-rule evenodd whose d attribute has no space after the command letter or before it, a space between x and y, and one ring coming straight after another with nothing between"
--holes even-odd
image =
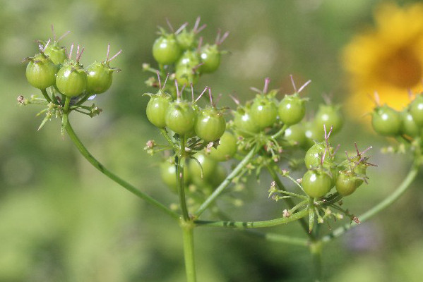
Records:
<instances>
[{"instance_id":1,"label":"green seed cluster right of centre, just above the lower-right cluster","mask_svg":"<svg viewBox=\"0 0 423 282\"><path fill-rule=\"evenodd\" d=\"M306 83L308 84L308 82ZM282 137L278 139L283 147L302 147L308 149L314 141L321 141L324 128L333 128L332 134L338 133L343 125L340 106L320 105L314 118L304 121L306 101L299 96L294 86L294 94L286 94L281 100L276 98L278 90L267 92L268 80L264 90L244 104L239 104L234 111L234 130L238 135L249 138L261 133L271 133L285 126Z\"/></svg>"}]
</instances>

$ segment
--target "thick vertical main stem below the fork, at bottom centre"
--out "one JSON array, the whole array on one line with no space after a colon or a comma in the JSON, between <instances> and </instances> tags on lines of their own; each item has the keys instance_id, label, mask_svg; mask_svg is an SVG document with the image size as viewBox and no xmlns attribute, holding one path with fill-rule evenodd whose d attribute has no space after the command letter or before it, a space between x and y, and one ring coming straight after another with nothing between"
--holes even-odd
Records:
<instances>
[{"instance_id":1,"label":"thick vertical main stem below the fork, at bottom centre","mask_svg":"<svg viewBox=\"0 0 423 282\"><path fill-rule=\"evenodd\" d=\"M193 225L191 223L181 223L184 238L184 259L186 281L196 282L196 262L194 259L194 239Z\"/></svg>"}]
</instances>

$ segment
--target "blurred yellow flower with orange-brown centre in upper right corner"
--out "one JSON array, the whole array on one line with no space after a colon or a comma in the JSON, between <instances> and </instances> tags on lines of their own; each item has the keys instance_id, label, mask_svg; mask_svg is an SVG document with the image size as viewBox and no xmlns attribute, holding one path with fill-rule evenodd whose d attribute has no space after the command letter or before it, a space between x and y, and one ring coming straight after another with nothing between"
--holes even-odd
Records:
<instances>
[{"instance_id":1,"label":"blurred yellow flower with orange-brown centre in upper right corner","mask_svg":"<svg viewBox=\"0 0 423 282\"><path fill-rule=\"evenodd\" d=\"M342 56L351 92L345 109L355 116L374 108L369 99L374 92L381 104L403 109L410 102L408 92L423 87L423 4L383 4L375 22L352 39Z\"/></svg>"}]
</instances>

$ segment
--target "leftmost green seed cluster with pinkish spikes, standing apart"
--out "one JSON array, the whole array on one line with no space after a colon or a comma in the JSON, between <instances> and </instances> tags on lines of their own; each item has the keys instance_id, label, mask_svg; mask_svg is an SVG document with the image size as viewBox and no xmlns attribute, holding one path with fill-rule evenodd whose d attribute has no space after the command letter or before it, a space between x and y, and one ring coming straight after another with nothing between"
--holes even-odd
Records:
<instances>
[{"instance_id":1,"label":"leftmost green seed cluster with pinkish spikes, standing apart","mask_svg":"<svg viewBox=\"0 0 423 282\"><path fill-rule=\"evenodd\" d=\"M112 75L118 68L111 68L110 61L120 53L117 52L109 58L110 45L107 47L105 61L91 63L84 68L80 62L84 49L74 48L71 45L69 51L59 45L59 41L68 35L66 32L56 39L53 31L53 40L38 41L40 52L35 56L25 58L28 63L25 76L33 87L39 89L43 98L32 95L30 99L18 98L20 104L44 104L46 108L40 111L45 117L38 128L39 130L52 117L61 118L61 134L64 137L68 125L68 115L71 111L93 117L102 111L95 104L87 106L84 103L94 99L96 94L106 92L112 85ZM76 49L75 59L72 53Z\"/></svg>"}]
</instances>

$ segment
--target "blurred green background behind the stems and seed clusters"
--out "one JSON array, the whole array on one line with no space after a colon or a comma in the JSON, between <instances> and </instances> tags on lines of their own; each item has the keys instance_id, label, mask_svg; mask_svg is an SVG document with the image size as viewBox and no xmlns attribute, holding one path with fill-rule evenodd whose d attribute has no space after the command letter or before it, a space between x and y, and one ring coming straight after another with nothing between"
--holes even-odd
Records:
<instances>
[{"instance_id":1,"label":"blurred green background behind the stems and seed clusters","mask_svg":"<svg viewBox=\"0 0 423 282\"><path fill-rule=\"evenodd\" d=\"M192 26L201 16L208 42L218 28L230 30L223 47L231 54L198 86L222 93L221 104L234 107L227 98L233 92L251 99L249 87L262 87L266 77L271 87L291 93L292 74L297 85L312 80L304 93L313 112L323 93L335 102L345 99L340 50L371 25L379 2L0 0L0 281L184 281L177 224L95 171L68 137L61 139L58 120L37 132L42 117L35 114L41 108L17 106L19 94L39 94L26 82L20 61L37 52L35 40L51 36L50 25L58 35L71 30L62 43L85 47L85 65L105 59L107 43L113 53L123 49L112 63L122 72L94 100L102 114L73 114L71 123L105 166L170 204L175 197L158 176L159 158L143 151L147 140L160 140L145 118L148 98L142 94L150 89L141 69L143 62L155 66L150 49L157 25L165 26L168 18L175 26L185 21ZM333 140L342 150L353 150L353 142L374 146L372 161L379 167L369 169L369 185L345 200L356 214L388 195L410 166L405 156L380 154L387 142L366 130L366 123L361 116L349 117ZM261 183L251 179L250 192L239 196L244 207L222 208L237 220L280 216L282 203L266 198L269 182L267 176ZM423 193L419 180L415 186L368 223L326 245L327 281L421 281ZM296 223L272 231L303 235ZM311 281L311 257L301 247L232 230L198 228L195 235L198 281Z\"/></svg>"}]
</instances>

